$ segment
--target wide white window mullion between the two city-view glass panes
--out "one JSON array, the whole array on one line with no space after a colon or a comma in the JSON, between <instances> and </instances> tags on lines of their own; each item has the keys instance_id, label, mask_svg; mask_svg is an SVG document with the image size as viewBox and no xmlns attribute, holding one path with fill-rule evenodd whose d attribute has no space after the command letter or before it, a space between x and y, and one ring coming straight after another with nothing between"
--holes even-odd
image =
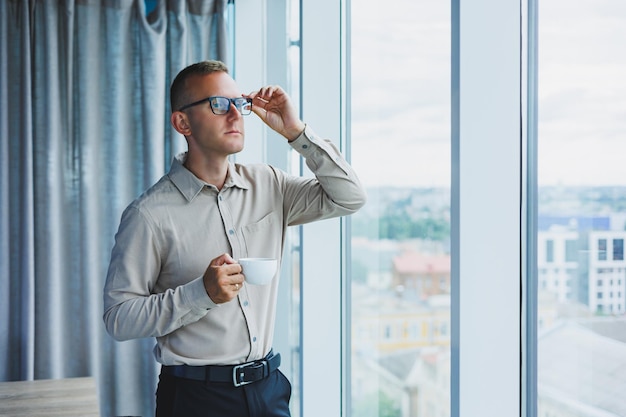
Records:
<instances>
[{"instance_id":1,"label":"wide white window mullion between the two city-view glass panes","mask_svg":"<svg viewBox=\"0 0 626 417\"><path fill-rule=\"evenodd\" d=\"M453 416L519 416L520 0L452 8Z\"/></svg>"}]
</instances>

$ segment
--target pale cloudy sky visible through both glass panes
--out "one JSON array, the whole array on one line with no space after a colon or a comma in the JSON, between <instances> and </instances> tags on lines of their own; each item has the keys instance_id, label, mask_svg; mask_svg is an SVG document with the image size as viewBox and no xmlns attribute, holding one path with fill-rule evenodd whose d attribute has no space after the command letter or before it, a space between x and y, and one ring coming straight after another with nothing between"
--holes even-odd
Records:
<instances>
[{"instance_id":1,"label":"pale cloudy sky visible through both glass panes","mask_svg":"<svg viewBox=\"0 0 626 417\"><path fill-rule=\"evenodd\" d=\"M352 164L367 186L449 186L449 2L358 6ZM626 185L626 1L539 7L539 184Z\"/></svg>"}]
</instances>

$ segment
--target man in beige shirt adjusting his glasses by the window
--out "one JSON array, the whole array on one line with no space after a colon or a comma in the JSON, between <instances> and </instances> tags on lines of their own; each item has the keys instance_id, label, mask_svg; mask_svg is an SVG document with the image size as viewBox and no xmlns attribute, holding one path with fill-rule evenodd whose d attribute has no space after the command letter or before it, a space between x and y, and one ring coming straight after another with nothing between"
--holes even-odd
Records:
<instances>
[{"instance_id":1,"label":"man in beige shirt adjusting his glasses by the window","mask_svg":"<svg viewBox=\"0 0 626 417\"><path fill-rule=\"evenodd\" d=\"M280 265L287 226L354 213L365 193L280 87L243 95L223 63L206 61L183 69L170 95L170 120L188 151L122 215L104 288L106 328L117 340L156 337L157 416L289 416L291 386L272 351L278 278L248 284L236 260ZM316 178L230 162L250 112Z\"/></svg>"}]
</instances>

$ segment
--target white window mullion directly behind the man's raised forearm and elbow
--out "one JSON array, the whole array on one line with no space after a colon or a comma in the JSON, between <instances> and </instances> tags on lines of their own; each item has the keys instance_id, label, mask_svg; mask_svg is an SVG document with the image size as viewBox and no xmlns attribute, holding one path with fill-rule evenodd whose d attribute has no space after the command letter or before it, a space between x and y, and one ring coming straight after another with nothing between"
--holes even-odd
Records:
<instances>
[{"instance_id":1,"label":"white window mullion directly behind the man's raised forearm and elbow","mask_svg":"<svg viewBox=\"0 0 626 417\"><path fill-rule=\"evenodd\" d=\"M302 114L341 145L341 5L302 0ZM307 175L307 174L305 174ZM302 230L302 415L341 415L341 221Z\"/></svg>"}]
</instances>

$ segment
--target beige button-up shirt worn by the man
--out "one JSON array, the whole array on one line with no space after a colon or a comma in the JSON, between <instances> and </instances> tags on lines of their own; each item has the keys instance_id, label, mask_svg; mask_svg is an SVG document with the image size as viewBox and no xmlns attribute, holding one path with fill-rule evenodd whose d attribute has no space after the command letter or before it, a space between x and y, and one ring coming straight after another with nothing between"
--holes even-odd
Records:
<instances>
[{"instance_id":1,"label":"beige button-up shirt worn by the man","mask_svg":"<svg viewBox=\"0 0 626 417\"><path fill-rule=\"evenodd\" d=\"M307 127L290 145L316 178L266 164L230 164L222 190L198 179L178 155L169 173L122 214L104 287L104 322L118 340L156 337L164 365L236 364L272 347L278 276L244 282L215 304L202 275L222 253L282 258L287 226L354 213L359 180L337 148Z\"/></svg>"}]
</instances>

